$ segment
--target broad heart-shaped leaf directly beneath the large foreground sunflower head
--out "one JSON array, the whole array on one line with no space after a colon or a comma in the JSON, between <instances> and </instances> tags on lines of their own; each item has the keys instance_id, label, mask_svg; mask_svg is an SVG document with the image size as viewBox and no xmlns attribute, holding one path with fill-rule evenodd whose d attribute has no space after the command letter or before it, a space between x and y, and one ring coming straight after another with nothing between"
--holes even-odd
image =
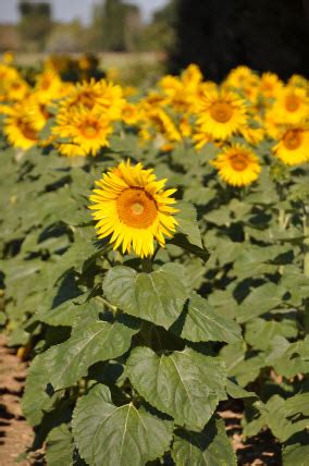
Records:
<instances>
[{"instance_id":1,"label":"broad heart-shaped leaf directly beneath the large foreground sunflower head","mask_svg":"<svg viewBox=\"0 0 309 466\"><path fill-rule=\"evenodd\" d=\"M178 318L189 289L185 268L166 263L151 273L114 267L103 282L107 298L125 312L169 329Z\"/></svg>"}]
</instances>

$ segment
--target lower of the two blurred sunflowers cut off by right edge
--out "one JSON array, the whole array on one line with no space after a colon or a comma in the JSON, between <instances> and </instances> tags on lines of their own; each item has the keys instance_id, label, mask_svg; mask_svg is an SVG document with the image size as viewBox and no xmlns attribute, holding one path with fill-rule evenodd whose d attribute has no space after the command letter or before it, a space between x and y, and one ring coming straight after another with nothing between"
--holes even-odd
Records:
<instances>
[{"instance_id":1,"label":"lower of the two blurred sunflowers cut off by right edge","mask_svg":"<svg viewBox=\"0 0 309 466\"><path fill-rule=\"evenodd\" d=\"M296 165L309 161L308 127L299 124L286 128L272 150L287 165Z\"/></svg>"}]
</instances>

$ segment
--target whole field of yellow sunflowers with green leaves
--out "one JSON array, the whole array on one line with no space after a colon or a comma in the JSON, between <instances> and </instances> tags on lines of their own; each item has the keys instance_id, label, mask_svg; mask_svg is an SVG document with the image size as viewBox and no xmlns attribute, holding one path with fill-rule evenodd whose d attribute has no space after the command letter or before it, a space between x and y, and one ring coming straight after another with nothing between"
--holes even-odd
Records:
<instances>
[{"instance_id":1,"label":"whole field of yellow sunflowers with green leaves","mask_svg":"<svg viewBox=\"0 0 309 466\"><path fill-rule=\"evenodd\" d=\"M0 324L48 466L309 464L308 82L0 63ZM69 73L70 75L70 73ZM273 463L279 464L279 463Z\"/></svg>"}]
</instances>

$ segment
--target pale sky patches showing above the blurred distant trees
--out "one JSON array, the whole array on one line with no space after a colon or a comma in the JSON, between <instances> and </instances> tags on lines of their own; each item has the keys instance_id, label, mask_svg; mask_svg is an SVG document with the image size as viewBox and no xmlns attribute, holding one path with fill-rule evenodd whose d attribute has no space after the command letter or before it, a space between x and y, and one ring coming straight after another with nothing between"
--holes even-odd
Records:
<instances>
[{"instance_id":1,"label":"pale sky patches showing above the blurred distant trees","mask_svg":"<svg viewBox=\"0 0 309 466\"><path fill-rule=\"evenodd\" d=\"M67 22L74 19L89 24L92 5L99 0L48 0L52 4L53 17L57 21ZM145 21L151 19L154 10L166 4L168 0L129 0L138 4ZM16 23L18 21L18 0L0 0L0 23Z\"/></svg>"}]
</instances>

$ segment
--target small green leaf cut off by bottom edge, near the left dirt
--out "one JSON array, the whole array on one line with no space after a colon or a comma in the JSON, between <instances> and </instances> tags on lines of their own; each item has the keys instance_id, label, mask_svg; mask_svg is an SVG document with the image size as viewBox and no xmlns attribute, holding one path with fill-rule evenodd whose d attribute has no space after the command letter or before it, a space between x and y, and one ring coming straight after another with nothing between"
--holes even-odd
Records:
<instances>
[{"instance_id":1,"label":"small green leaf cut off by bottom edge, near the left dirt","mask_svg":"<svg viewBox=\"0 0 309 466\"><path fill-rule=\"evenodd\" d=\"M47 466L71 466L73 465L73 437L66 424L52 429L46 443Z\"/></svg>"}]
</instances>

